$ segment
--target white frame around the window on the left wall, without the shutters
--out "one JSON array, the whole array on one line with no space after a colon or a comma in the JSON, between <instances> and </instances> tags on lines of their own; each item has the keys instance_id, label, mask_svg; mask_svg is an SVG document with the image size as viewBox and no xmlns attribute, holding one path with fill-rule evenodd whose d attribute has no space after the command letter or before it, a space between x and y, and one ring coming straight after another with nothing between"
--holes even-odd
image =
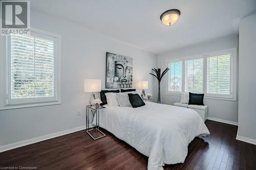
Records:
<instances>
[{"instance_id":1,"label":"white frame around the window on the left wall, without the shutters","mask_svg":"<svg viewBox=\"0 0 256 170\"><path fill-rule=\"evenodd\" d=\"M27 99L11 99L11 56L10 52L10 36L6 36L1 39L3 42L3 58L4 62L1 64L4 67L4 71L1 77L4 82L1 90L1 96L4 96L3 101L0 101L0 110L26 108L35 106L46 106L61 104L61 89L60 89L60 47L61 36L38 29L31 29L31 36L38 38L51 39L54 41L54 96L45 98L27 98ZM47 38L46 38L47 37Z\"/></svg>"}]
</instances>

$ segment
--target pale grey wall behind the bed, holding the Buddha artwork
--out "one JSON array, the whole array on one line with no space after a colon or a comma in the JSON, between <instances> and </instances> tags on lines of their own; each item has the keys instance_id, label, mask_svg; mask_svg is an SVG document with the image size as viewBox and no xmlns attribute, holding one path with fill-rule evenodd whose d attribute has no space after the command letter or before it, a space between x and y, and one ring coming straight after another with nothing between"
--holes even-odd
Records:
<instances>
[{"instance_id":1,"label":"pale grey wall behind the bed, holding the Buddha artwork","mask_svg":"<svg viewBox=\"0 0 256 170\"><path fill-rule=\"evenodd\" d=\"M156 96L153 90L156 89L155 80L148 74L157 66L156 55L74 23L33 11L31 27L62 36L62 104L0 111L0 146L86 125L90 93L83 92L83 80L101 79L104 89L106 52L132 57L134 82L148 80L146 92ZM78 109L82 110L80 116L77 116Z\"/></svg>"}]
</instances>

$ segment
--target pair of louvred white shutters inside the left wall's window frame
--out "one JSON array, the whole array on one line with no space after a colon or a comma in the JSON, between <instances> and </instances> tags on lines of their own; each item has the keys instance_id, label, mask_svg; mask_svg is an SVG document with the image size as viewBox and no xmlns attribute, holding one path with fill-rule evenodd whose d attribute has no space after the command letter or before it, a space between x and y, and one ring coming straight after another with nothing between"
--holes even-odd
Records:
<instances>
[{"instance_id":1,"label":"pair of louvred white shutters inside the left wall's window frame","mask_svg":"<svg viewBox=\"0 0 256 170\"><path fill-rule=\"evenodd\" d=\"M11 99L54 96L54 41L49 39L10 37Z\"/></svg>"}]
</instances>

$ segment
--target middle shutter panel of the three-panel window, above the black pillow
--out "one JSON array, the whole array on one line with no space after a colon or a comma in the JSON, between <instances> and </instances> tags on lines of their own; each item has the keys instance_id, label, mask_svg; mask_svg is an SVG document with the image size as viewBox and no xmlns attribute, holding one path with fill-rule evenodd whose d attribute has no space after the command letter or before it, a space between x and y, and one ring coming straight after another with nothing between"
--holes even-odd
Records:
<instances>
[{"instance_id":1,"label":"middle shutter panel of the three-panel window, above the black pillow","mask_svg":"<svg viewBox=\"0 0 256 170\"><path fill-rule=\"evenodd\" d=\"M203 93L203 58L185 60L185 92Z\"/></svg>"}]
</instances>

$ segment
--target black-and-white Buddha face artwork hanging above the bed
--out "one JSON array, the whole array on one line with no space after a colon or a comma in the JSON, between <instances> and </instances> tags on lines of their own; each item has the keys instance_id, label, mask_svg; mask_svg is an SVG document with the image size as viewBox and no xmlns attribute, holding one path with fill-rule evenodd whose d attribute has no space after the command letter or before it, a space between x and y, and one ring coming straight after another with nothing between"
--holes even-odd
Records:
<instances>
[{"instance_id":1,"label":"black-and-white Buddha face artwork hanging above the bed","mask_svg":"<svg viewBox=\"0 0 256 170\"><path fill-rule=\"evenodd\" d=\"M106 88L133 87L133 58L106 52Z\"/></svg>"}]
</instances>

